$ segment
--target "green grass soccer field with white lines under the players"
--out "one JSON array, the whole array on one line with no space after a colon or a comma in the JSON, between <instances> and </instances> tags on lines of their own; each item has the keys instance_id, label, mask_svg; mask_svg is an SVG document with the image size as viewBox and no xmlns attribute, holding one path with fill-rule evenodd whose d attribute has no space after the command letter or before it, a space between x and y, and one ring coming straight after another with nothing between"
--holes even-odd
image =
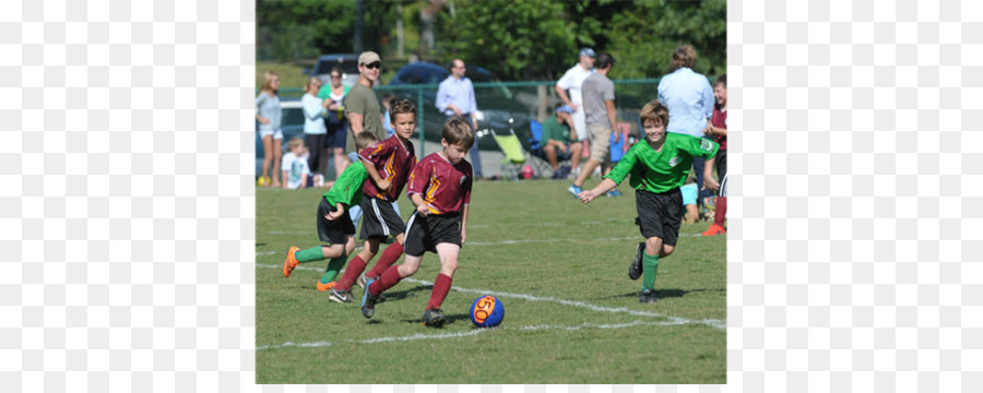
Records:
<instances>
[{"instance_id":1,"label":"green grass soccer field with white lines under the players","mask_svg":"<svg viewBox=\"0 0 983 393\"><path fill-rule=\"evenodd\" d=\"M289 278L281 272L289 246L318 243L313 213L323 190L258 189L257 382L726 383L725 236L683 225L675 253L660 261L659 302L642 305L641 281L627 275L641 241L627 181L625 196L587 206L567 186L475 184L442 330L419 323L437 255L426 254L367 320L357 300L331 302L315 289L327 261L301 264ZM408 201L400 205L407 217ZM471 323L482 294L506 307L496 329Z\"/></svg>"}]
</instances>

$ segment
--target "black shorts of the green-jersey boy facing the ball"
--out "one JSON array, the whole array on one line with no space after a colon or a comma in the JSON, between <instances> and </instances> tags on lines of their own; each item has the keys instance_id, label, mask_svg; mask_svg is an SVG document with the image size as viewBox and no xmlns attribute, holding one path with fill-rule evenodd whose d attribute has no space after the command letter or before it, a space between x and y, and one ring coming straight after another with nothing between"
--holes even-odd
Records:
<instances>
[{"instance_id":1,"label":"black shorts of the green-jersey boy facing the ball","mask_svg":"<svg viewBox=\"0 0 983 393\"><path fill-rule=\"evenodd\" d=\"M683 207L683 192L678 188L663 193L636 190L635 207L638 210L635 224L646 239L659 237L663 245L676 246L686 211Z\"/></svg>"}]
</instances>

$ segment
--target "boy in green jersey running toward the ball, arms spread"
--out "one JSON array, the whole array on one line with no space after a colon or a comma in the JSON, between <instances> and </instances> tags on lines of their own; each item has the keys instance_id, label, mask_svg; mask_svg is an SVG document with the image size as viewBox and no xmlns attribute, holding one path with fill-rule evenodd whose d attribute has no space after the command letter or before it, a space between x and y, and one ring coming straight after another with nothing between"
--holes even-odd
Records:
<instances>
[{"instance_id":1,"label":"boy in green jersey running toward the ball, arms spread","mask_svg":"<svg viewBox=\"0 0 983 393\"><path fill-rule=\"evenodd\" d=\"M578 196L583 203L590 203L597 195L613 190L625 177L631 175L630 184L635 191L635 204L638 210L636 223L639 225L646 242L639 243L636 261L628 271L631 279L643 276L641 302L655 302L655 271L659 258L673 253L679 236L679 224L683 219L683 194L679 187L686 183L686 176L692 167L694 157L707 158L703 168L704 183L708 189L715 190L720 186L713 180L713 155L719 145L707 139L680 133L665 132L668 124L668 109L658 99L653 99L642 108L642 127L646 142L638 143L625 153L625 157L611 170L593 190L581 192ZM640 263L639 263L640 262Z\"/></svg>"}]
</instances>

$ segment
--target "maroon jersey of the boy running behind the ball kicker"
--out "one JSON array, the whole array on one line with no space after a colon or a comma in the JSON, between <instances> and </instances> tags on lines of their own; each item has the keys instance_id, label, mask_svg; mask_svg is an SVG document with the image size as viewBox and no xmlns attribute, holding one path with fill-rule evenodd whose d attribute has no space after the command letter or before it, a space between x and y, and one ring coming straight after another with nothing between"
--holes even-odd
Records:
<instances>
[{"instance_id":1,"label":"maroon jersey of the boy running behind the ball kicker","mask_svg":"<svg viewBox=\"0 0 983 393\"><path fill-rule=\"evenodd\" d=\"M382 192L376 188L376 182L369 177L365 180L362 192L366 196L378 198L387 202L393 202L400 198L410 171L416 165L416 152L413 143L406 141L406 145L403 146L396 135L366 147L358 153L358 157L375 165L379 176L392 183L388 192ZM358 165L363 164L358 163Z\"/></svg>"}]
</instances>

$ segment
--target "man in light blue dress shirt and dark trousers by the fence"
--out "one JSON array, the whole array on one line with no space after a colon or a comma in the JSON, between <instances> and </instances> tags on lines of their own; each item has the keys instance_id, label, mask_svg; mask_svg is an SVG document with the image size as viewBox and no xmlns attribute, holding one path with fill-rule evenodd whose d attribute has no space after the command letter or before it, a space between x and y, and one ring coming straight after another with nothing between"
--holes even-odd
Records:
<instances>
[{"instance_id":1,"label":"man in light blue dress shirt and dark trousers by the fence","mask_svg":"<svg viewBox=\"0 0 983 393\"><path fill-rule=\"evenodd\" d=\"M464 60L451 60L448 71L450 75L440 82L437 88L437 109L450 119L453 116L462 116L469 119L471 130L475 132L474 143L471 145L471 166L474 168L474 179L482 179L482 156L478 155L477 138L477 105L474 102L474 85L464 76Z\"/></svg>"}]
</instances>

